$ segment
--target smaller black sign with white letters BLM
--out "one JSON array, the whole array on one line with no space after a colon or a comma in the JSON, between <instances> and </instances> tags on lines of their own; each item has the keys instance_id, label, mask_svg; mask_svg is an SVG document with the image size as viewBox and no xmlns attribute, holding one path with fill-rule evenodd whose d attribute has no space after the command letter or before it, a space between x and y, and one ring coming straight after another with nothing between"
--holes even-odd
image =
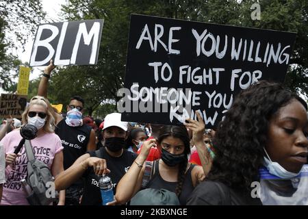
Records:
<instances>
[{"instance_id":1,"label":"smaller black sign with white letters BLM","mask_svg":"<svg viewBox=\"0 0 308 219\"><path fill-rule=\"evenodd\" d=\"M103 20L69 21L38 26L30 66L97 64Z\"/></svg>"}]
</instances>

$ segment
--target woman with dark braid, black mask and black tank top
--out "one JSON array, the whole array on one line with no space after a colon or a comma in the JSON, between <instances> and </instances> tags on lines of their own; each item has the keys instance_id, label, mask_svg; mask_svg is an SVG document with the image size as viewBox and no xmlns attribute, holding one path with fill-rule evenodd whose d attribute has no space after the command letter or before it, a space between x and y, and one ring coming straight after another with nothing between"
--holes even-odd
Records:
<instances>
[{"instance_id":1,"label":"woman with dark braid, black mask and black tank top","mask_svg":"<svg viewBox=\"0 0 308 219\"><path fill-rule=\"evenodd\" d=\"M195 127L203 127L194 132L194 140L204 145L202 134L204 123L198 114L199 122ZM197 136L198 137L197 137ZM159 144L162 150L161 159L153 162L152 174L149 182L142 186L142 179L146 166L143 165L152 146ZM142 187L153 189L166 189L175 192L181 205L186 204L188 196L194 187L204 179L205 174L201 166L188 163L190 154L190 138L185 127L165 126L159 133L158 140L144 142L142 150L127 174L118 183L116 204L129 201Z\"/></svg>"}]
</instances>

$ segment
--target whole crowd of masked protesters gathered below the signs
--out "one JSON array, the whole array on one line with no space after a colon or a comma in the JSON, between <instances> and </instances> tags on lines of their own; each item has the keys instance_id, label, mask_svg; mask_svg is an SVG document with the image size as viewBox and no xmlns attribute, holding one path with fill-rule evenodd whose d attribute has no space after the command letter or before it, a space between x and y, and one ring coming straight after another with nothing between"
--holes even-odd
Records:
<instances>
[{"instance_id":1,"label":"whole crowd of masked protesters gathered below the signs","mask_svg":"<svg viewBox=\"0 0 308 219\"><path fill-rule=\"evenodd\" d=\"M108 205L130 205L140 192L150 197L165 190L180 205L308 205L302 177L308 172L307 103L280 84L259 81L242 90L211 130L198 113L182 126L129 123L117 112L94 119L83 115L80 96L68 100L62 116L47 100L53 68L52 62L45 68L22 121L8 118L1 125L0 205L29 204L20 182L27 155L25 149L13 153L27 124L38 129L31 144L55 177L57 205L101 205L101 175L113 183ZM262 177L262 168L272 178ZM254 182L263 186L261 196L252 196Z\"/></svg>"}]
</instances>

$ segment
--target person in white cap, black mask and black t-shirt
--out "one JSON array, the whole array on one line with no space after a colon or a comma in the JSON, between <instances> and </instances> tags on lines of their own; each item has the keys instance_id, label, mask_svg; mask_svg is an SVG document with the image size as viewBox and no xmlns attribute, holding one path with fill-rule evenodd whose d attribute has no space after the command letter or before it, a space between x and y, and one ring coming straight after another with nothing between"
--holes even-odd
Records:
<instances>
[{"instance_id":1,"label":"person in white cap, black mask and black t-shirt","mask_svg":"<svg viewBox=\"0 0 308 219\"><path fill-rule=\"evenodd\" d=\"M73 166L70 166L55 180L55 189L63 190L71 183L84 177L84 194L81 205L101 205L99 178L110 172L108 177L113 183L114 194L118 181L125 175L133 160L134 153L124 149L127 138L127 123L120 120L121 114L108 114L104 120L103 143L104 147L96 152L89 152L79 157ZM109 170L107 170L107 166Z\"/></svg>"}]
</instances>

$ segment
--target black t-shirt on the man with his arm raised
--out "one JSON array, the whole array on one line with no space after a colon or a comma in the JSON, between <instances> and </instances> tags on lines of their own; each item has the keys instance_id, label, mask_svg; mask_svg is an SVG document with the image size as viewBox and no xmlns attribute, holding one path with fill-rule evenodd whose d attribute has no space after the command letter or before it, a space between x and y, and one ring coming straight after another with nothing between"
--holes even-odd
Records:
<instances>
[{"instance_id":1,"label":"black t-shirt on the man with his arm raised","mask_svg":"<svg viewBox=\"0 0 308 219\"><path fill-rule=\"evenodd\" d=\"M55 128L55 133L60 137L63 149L64 170L72 166L75 160L87 151L90 140L91 127L81 125L70 127L62 119Z\"/></svg>"}]
</instances>

